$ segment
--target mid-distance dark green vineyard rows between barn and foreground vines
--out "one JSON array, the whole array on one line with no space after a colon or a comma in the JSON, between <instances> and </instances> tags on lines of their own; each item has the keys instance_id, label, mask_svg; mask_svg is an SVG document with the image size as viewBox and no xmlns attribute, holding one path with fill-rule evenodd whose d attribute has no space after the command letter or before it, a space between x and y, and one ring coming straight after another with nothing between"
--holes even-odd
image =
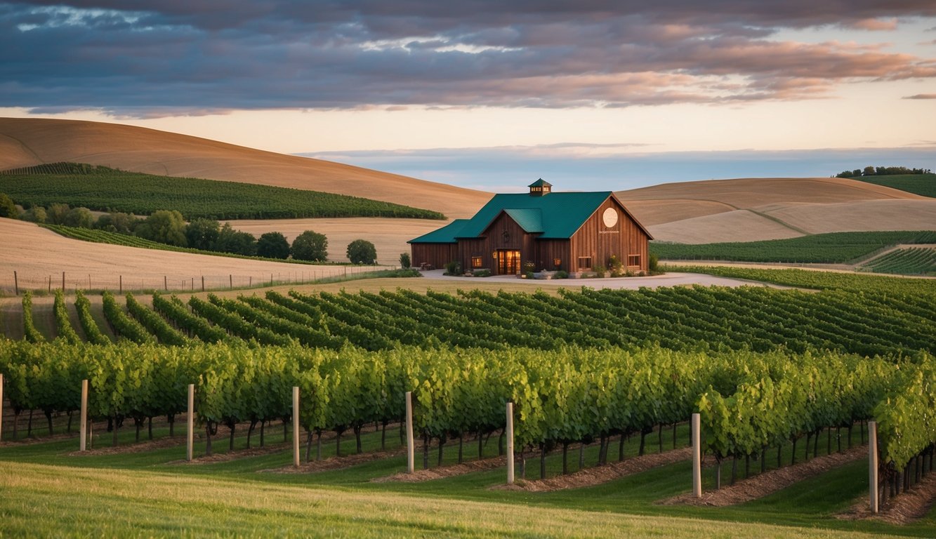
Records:
<instances>
[{"instance_id":1,"label":"mid-distance dark green vineyard rows between barn and foreground vines","mask_svg":"<svg viewBox=\"0 0 936 539\"><path fill-rule=\"evenodd\" d=\"M459 296L408 290L189 299L154 295L154 313L128 295L128 328L105 301L121 337L166 344L256 341L339 349L346 344L387 350L423 348L503 350L566 345L636 350L651 344L683 351L782 348L797 354L832 350L862 356L936 353L933 298L911 294L817 293L766 287L680 287L562 291L534 294L462 292ZM24 301L24 308L26 302ZM29 335L36 332L27 329Z\"/></svg>"}]
</instances>

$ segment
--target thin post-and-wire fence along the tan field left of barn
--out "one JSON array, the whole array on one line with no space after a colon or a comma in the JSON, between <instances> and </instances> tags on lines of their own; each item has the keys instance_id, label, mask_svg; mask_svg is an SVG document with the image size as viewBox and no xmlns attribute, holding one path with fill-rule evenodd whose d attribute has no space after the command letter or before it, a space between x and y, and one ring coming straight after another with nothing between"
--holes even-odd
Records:
<instances>
[{"instance_id":1,"label":"thin post-and-wire fence along the tan field left of barn","mask_svg":"<svg viewBox=\"0 0 936 539\"><path fill-rule=\"evenodd\" d=\"M22 273L9 271L0 276L0 291L6 294L20 295L30 290L37 293L52 290L86 290L112 292L139 292L164 290L168 292L200 292L253 286L273 286L277 284L309 284L323 279L344 278L360 273L370 273L379 266L320 266L296 271L272 271L253 273L228 273L227 275L186 275L181 273L78 273L75 271L57 271L49 274Z\"/></svg>"}]
</instances>

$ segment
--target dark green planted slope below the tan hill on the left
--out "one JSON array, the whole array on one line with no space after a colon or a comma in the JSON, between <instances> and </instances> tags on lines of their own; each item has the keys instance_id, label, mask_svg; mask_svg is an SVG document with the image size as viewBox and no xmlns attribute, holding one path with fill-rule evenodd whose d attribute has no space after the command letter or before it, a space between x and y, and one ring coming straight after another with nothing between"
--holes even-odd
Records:
<instances>
[{"instance_id":1,"label":"dark green planted slope below the tan hill on the left","mask_svg":"<svg viewBox=\"0 0 936 539\"><path fill-rule=\"evenodd\" d=\"M0 172L0 193L17 204L64 203L97 211L149 215L178 210L185 219L409 217L445 219L438 211L271 185L154 176L76 163Z\"/></svg>"}]
</instances>

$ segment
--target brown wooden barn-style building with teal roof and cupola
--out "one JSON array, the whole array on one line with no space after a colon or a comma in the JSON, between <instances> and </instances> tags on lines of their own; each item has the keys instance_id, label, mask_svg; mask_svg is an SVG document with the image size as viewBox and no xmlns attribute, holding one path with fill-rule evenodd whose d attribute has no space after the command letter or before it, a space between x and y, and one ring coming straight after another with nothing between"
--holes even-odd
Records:
<instances>
[{"instance_id":1,"label":"brown wooden barn-style building with teal roof and cupola","mask_svg":"<svg viewBox=\"0 0 936 539\"><path fill-rule=\"evenodd\" d=\"M440 268L458 260L463 269L495 275L530 265L571 273L608 268L614 255L625 269L648 269L650 232L614 193L553 193L543 180L529 187L530 193L495 195L471 219L409 240L413 264Z\"/></svg>"}]
</instances>

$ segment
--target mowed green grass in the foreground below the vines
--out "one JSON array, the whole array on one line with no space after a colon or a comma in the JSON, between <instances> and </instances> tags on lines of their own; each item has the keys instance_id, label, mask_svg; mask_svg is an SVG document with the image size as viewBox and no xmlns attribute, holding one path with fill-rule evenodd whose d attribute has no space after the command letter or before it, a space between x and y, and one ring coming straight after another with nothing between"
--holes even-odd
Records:
<instances>
[{"instance_id":1,"label":"mowed green grass in the foreground below the vines","mask_svg":"<svg viewBox=\"0 0 936 539\"><path fill-rule=\"evenodd\" d=\"M22 427L22 425L21 425ZM179 425L182 430L182 425ZM8 434L9 426L5 425ZM124 429L121 444L132 444ZM179 431L177 430L177 432ZM100 430L98 430L100 431ZM157 437L165 429L156 430ZM857 432L856 432L857 436ZM867 463L854 462L766 498L735 507L660 505L690 488L689 461L637 473L604 485L554 492L491 489L505 480L503 469L422 483L373 482L405 469L399 451L385 459L317 473L271 473L292 461L279 426L267 444L282 450L214 463L187 464L179 444L134 453L75 455L77 438L0 446L0 537L21 536L332 536L332 537L860 537L936 535L936 511L908 526L847 521L834 517L867 496ZM258 437L255 432L253 443ZM686 432L679 431L679 444ZM110 444L110 434L95 440ZM245 446L236 439L236 448ZM365 434L364 452L379 449L379 434ZM636 453L638 438L625 444ZM664 449L672 441L665 432ZM595 444L596 445L596 444ZM655 434L648 439L658 450ZM343 453L354 452L345 436ZM214 442L227 450L227 437ZM616 444L611 451L616 455ZM400 449L398 431L388 430L388 450ZM596 447L586 451L594 462ZM446 445L446 464L457 457ZM204 442L196 444L196 456ZM323 457L334 453L323 442ZM465 443L466 459L476 443ZM485 456L497 453L496 436ZM576 457L573 457L573 453ZM784 460L788 461L788 450ZM822 452L821 452L822 453ZM314 454L314 451L313 451ZM437 453L431 450L431 466ZM572 471L578 451L570 451ZM771 459L768 459L768 463ZM421 455L417 451L417 468ZM548 458L548 474L561 471ZM538 460L528 459L528 474ZM739 467L743 470L743 465ZM753 466L753 470L759 469ZM743 473L743 472L742 472ZM724 481L730 465L723 470ZM706 471L705 488L711 488Z\"/></svg>"}]
</instances>

